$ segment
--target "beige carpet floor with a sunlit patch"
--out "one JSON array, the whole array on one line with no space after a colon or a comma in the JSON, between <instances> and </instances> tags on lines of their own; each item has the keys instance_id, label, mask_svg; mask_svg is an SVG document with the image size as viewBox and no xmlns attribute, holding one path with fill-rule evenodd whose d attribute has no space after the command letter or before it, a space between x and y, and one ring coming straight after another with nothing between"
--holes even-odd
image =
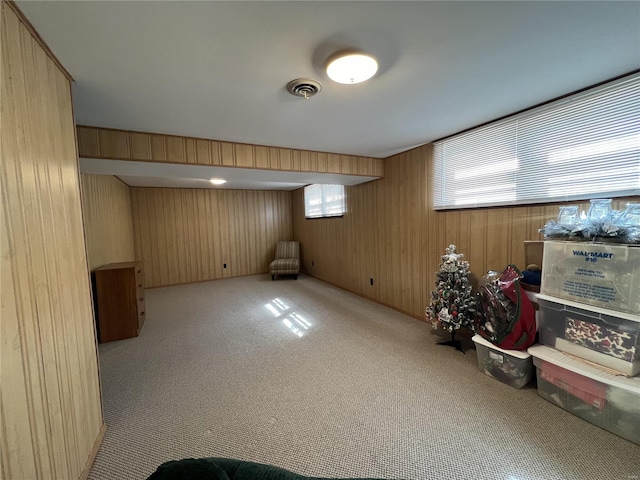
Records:
<instances>
[{"instance_id":1,"label":"beige carpet floor with a sunlit patch","mask_svg":"<svg viewBox=\"0 0 640 480\"><path fill-rule=\"evenodd\" d=\"M478 370L431 326L307 276L148 290L100 346L107 433L90 479L223 456L314 476L640 477L640 446ZM425 305L426 306L426 305Z\"/></svg>"}]
</instances>

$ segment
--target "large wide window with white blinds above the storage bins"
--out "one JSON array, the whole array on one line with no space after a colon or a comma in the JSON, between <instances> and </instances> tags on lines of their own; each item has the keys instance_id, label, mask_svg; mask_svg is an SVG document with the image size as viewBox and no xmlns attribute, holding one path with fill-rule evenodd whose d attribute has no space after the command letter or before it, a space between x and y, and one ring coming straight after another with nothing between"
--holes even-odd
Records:
<instances>
[{"instance_id":1,"label":"large wide window with white blinds above the storage bins","mask_svg":"<svg viewBox=\"0 0 640 480\"><path fill-rule=\"evenodd\" d=\"M434 144L436 210L640 194L640 74Z\"/></svg>"}]
</instances>

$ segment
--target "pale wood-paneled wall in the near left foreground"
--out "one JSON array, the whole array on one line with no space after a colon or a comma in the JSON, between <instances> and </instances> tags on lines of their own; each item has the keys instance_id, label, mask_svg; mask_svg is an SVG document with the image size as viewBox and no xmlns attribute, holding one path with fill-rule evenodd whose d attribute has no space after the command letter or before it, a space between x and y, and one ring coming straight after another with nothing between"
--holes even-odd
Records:
<instances>
[{"instance_id":1,"label":"pale wood-paneled wall in the near left foreground","mask_svg":"<svg viewBox=\"0 0 640 480\"><path fill-rule=\"evenodd\" d=\"M71 85L1 2L1 473L88 474L104 434Z\"/></svg>"}]
</instances>

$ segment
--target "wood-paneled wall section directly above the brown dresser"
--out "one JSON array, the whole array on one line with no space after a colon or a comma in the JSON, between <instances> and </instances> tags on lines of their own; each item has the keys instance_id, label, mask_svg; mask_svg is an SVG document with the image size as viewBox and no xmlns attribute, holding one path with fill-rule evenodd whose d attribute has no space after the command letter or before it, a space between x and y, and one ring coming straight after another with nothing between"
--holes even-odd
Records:
<instances>
[{"instance_id":1,"label":"wood-paneled wall section directly above the brown dresser","mask_svg":"<svg viewBox=\"0 0 640 480\"><path fill-rule=\"evenodd\" d=\"M131 188L112 175L82 175L89 270L135 260Z\"/></svg>"}]
</instances>

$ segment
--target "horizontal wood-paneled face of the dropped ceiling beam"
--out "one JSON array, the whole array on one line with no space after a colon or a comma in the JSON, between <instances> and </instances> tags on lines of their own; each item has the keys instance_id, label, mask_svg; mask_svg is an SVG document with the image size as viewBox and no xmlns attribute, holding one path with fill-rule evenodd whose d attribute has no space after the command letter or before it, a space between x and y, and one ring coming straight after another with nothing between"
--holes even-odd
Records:
<instances>
[{"instance_id":1,"label":"horizontal wood-paneled face of the dropped ceiling beam","mask_svg":"<svg viewBox=\"0 0 640 480\"><path fill-rule=\"evenodd\" d=\"M379 158L78 126L81 157L383 176Z\"/></svg>"}]
</instances>

